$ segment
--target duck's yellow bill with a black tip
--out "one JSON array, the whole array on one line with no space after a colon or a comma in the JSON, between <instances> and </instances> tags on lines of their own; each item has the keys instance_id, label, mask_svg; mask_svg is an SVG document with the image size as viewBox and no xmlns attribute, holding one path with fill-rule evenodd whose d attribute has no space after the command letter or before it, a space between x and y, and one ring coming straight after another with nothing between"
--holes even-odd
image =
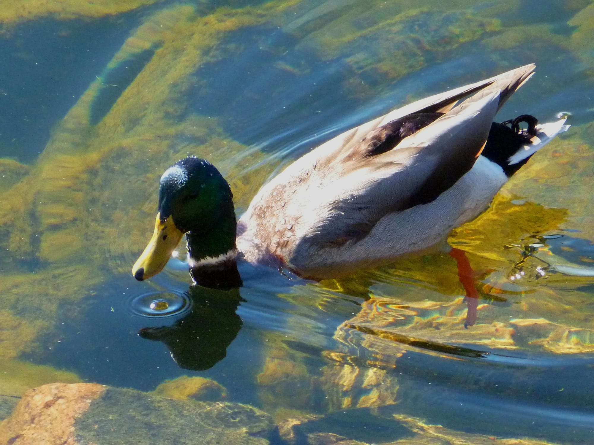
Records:
<instances>
[{"instance_id":1,"label":"duck's yellow bill with a black tip","mask_svg":"<svg viewBox=\"0 0 594 445\"><path fill-rule=\"evenodd\" d=\"M134 278L143 281L143 279L150 278L162 271L182 236L184 234L175 226L172 216L161 222L160 214L157 214L153 237L140 258L132 266Z\"/></svg>"}]
</instances>

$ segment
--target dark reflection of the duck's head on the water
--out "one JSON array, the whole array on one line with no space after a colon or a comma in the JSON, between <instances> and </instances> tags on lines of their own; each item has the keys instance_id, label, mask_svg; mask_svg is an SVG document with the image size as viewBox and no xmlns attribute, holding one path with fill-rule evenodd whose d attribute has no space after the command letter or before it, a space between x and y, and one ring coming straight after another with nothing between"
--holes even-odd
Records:
<instances>
[{"instance_id":1,"label":"dark reflection of the duck's head on the water","mask_svg":"<svg viewBox=\"0 0 594 445\"><path fill-rule=\"evenodd\" d=\"M179 367L204 371L226 355L227 347L241 329L236 313L243 300L239 289L220 291L192 285L188 289L192 309L171 326L143 328L138 335L165 343Z\"/></svg>"}]
</instances>

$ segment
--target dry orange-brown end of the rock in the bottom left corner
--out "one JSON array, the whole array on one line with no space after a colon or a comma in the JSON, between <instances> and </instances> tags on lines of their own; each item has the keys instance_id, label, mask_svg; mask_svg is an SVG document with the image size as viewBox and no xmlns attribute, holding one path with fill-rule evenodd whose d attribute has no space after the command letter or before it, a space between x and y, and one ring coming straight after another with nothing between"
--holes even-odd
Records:
<instances>
[{"instance_id":1,"label":"dry orange-brown end of the rock in the bottom left corner","mask_svg":"<svg viewBox=\"0 0 594 445\"><path fill-rule=\"evenodd\" d=\"M77 445L74 421L106 386L52 383L24 393L12 416L0 424L0 444Z\"/></svg>"}]
</instances>

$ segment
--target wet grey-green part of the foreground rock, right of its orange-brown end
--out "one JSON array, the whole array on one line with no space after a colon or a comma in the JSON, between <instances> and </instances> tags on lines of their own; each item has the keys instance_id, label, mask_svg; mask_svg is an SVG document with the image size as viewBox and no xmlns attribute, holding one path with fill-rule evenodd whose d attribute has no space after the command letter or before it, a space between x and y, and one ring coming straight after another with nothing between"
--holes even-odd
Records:
<instances>
[{"instance_id":1,"label":"wet grey-green part of the foreground rock, right of its orange-brown end","mask_svg":"<svg viewBox=\"0 0 594 445\"><path fill-rule=\"evenodd\" d=\"M125 403L122 403L125 401ZM269 415L249 405L174 400L108 387L74 424L81 443L264 445L273 434Z\"/></svg>"}]
</instances>

